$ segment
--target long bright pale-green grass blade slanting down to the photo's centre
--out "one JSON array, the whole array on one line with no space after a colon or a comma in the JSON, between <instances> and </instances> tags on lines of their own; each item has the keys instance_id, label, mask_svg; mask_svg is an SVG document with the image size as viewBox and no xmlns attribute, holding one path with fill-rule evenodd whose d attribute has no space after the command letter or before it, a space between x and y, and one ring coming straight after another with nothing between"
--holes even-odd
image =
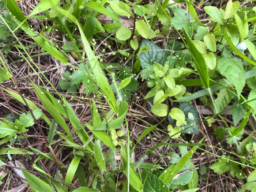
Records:
<instances>
[{"instance_id":1,"label":"long bright pale-green grass blade slanting down to the photo's centre","mask_svg":"<svg viewBox=\"0 0 256 192\"><path fill-rule=\"evenodd\" d=\"M94 3L94 2L90 2ZM91 46L89 45L89 42L87 41L83 29L80 25L78 25L82 42L84 45L84 50L86 51L88 60L90 62L91 68L93 70L93 74L95 76L96 82L98 83L99 87L101 88L102 94L106 98L106 101L109 103L109 106L114 110L114 112L118 113L118 106L116 102L116 98L114 96L114 93L112 89L110 88L110 85L108 83L108 79L105 77L105 75L102 72L101 66L99 65L98 60L96 59L93 50L91 49Z\"/></svg>"}]
</instances>

